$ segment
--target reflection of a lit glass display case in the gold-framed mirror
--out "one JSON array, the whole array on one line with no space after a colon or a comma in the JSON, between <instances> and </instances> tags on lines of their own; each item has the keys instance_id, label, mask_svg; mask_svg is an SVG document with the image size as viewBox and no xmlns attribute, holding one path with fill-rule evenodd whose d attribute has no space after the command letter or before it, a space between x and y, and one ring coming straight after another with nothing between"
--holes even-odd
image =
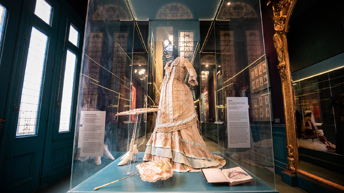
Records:
<instances>
[{"instance_id":1,"label":"reflection of a lit glass display case in the gold-framed mirror","mask_svg":"<svg viewBox=\"0 0 344 193\"><path fill-rule=\"evenodd\" d=\"M344 159L342 59L343 53L291 73L299 168L339 185L344 185L338 169Z\"/></svg>"}]
</instances>

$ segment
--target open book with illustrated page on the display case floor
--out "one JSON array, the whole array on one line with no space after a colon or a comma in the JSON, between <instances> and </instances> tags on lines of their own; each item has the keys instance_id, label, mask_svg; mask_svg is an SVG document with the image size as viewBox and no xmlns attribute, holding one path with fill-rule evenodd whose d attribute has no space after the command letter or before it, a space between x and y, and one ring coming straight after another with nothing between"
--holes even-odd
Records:
<instances>
[{"instance_id":1,"label":"open book with illustrated page on the display case floor","mask_svg":"<svg viewBox=\"0 0 344 193\"><path fill-rule=\"evenodd\" d=\"M253 178L242 168L220 170L218 168L202 169L208 183L229 183L230 186L252 181Z\"/></svg>"}]
</instances>

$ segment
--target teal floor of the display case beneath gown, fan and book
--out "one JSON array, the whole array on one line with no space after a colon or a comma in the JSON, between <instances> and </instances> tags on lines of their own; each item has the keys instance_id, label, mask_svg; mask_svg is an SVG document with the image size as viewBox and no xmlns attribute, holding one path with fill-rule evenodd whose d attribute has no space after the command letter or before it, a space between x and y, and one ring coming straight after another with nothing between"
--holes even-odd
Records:
<instances>
[{"instance_id":1,"label":"teal floor of the display case beneath gown, fan and book","mask_svg":"<svg viewBox=\"0 0 344 193\"><path fill-rule=\"evenodd\" d=\"M215 155L222 156L220 152L212 152ZM134 161L134 165L143 162L144 152L140 152ZM223 156L222 156L223 157ZM238 165L231 159L226 159L226 166L223 169L237 167ZM95 173L93 176L77 185L68 192L278 192L264 181L255 177L252 173L245 170L253 177L253 181L236 186L229 186L228 184L211 184L207 183L202 172L174 172L173 177L167 180L159 180L157 182L142 181L140 175L134 175L127 179L102 187L98 190L93 190L95 187L124 178L128 175L123 175L123 167L118 166L120 159L113 161L104 169ZM125 168L124 168L125 170Z\"/></svg>"}]
</instances>

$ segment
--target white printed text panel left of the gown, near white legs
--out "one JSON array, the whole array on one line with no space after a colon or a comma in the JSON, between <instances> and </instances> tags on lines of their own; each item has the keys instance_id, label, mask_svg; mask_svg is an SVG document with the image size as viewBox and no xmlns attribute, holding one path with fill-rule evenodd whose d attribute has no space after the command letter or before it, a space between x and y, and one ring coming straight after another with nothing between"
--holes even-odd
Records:
<instances>
[{"instance_id":1,"label":"white printed text panel left of the gown, near white legs","mask_svg":"<svg viewBox=\"0 0 344 193\"><path fill-rule=\"evenodd\" d=\"M84 111L81 157L102 157L104 153L106 111ZM79 138L80 139L80 138Z\"/></svg>"}]
</instances>

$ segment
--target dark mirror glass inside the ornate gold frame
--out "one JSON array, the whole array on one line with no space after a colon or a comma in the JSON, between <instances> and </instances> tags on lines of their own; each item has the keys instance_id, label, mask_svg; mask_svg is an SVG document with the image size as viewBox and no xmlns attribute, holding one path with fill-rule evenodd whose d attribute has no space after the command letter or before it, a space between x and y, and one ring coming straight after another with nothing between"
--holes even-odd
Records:
<instances>
[{"instance_id":1,"label":"dark mirror glass inside the ornate gold frame","mask_svg":"<svg viewBox=\"0 0 344 193\"><path fill-rule=\"evenodd\" d=\"M289 20L298 167L344 186L344 7L299 1Z\"/></svg>"}]
</instances>

